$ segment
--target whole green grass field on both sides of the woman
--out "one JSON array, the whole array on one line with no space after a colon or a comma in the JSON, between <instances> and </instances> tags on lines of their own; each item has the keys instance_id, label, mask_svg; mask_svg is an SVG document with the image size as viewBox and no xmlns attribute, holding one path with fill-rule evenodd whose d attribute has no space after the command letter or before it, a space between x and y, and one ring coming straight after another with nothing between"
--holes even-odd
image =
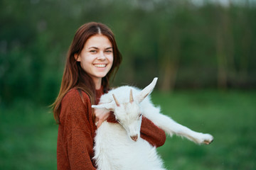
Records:
<instances>
[{"instance_id":1,"label":"whole green grass field on both sides of the woman","mask_svg":"<svg viewBox=\"0 0 256 170\"><path fill-rule=\"evenodd\" d=\"M168 137L158 151L167 169L256 169L256 91L151 94L178 123L213 135L210 145ZM58 125L47 107L17 100L0 108L0 169L56 169Z\"/></svg>"}]
</instances>

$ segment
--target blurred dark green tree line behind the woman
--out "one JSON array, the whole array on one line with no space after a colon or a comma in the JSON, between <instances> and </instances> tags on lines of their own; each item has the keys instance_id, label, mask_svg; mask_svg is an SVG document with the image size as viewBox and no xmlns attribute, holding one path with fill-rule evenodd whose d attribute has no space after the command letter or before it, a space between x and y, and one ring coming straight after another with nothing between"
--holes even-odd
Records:
<instances>
[{"instance_id":1,"label":"blurred dark green tree line behind the woman","mask_svg":"<svg viewBox=\"0 0 256 170\"><path fill-rule=\"evenodd\" d=\"M109 26L123 62L113 86L255 89L256 8L203 1L0 1L0 102L54 101L75 31Z\"/></svg>"}]
</instances>

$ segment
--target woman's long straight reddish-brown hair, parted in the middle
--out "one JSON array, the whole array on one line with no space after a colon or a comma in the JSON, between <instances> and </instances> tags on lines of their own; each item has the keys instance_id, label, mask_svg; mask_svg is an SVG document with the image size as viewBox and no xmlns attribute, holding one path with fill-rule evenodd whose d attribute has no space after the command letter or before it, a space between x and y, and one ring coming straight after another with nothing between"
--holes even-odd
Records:
<instances>
[{"instance_id":1,"label":"woman's long straight reddish-brown hair, parted in the middle","mask_svg":"<svg viewBox=\"0 0 256 170\"><path fill-rule=\"evenodd\" d=\"M112 43L114 55L114 61L110 72L108 72L107 75L102 78L102 86L105 92L109 89L110 77L112 76L112 74L115 74L117 72L119 64L121 64L122 62L122 55L117 48L114 34L110 30L110 28L105 26L105 24L91 22L85 23L80 28L78 28L77 32L75 33L73 42L71 43L68 50L63 79L60 86L60 92L52 105L54 118L57 124L60 124L61 101L70 89L76 88L85 91L85 93L89 96L91 103L95 103L96 92L94 81L92 81L92 78L87 74L87 72L82 69L82 67L80 66L80 62L77 62L75 60L74 55L80 55L80 52L82 51L82 48L84 47L85 42L88 40L88 38L90 38L92 35L97 34L107 36L107 38ZM92 114L92 116L94 115Z\"/></svg>"}]
</instances>

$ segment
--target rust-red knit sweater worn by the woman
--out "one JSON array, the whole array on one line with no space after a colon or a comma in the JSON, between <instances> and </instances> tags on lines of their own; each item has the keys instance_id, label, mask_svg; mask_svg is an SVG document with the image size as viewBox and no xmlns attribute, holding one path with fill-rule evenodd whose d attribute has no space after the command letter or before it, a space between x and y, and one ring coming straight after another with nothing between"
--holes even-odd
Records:
<instances>
[{"instance_id":1,"label":"rust-red knit sweater worn by the woman","mask_svg":"<svg viewBox=\"0 0 256 170\"><path fill-rule=\"evenodd\" d=\"M102 90L97 91L97 102ZM61 102L60 125L57 142L57 169L58 170L91 170L95 169L92 162L93 138L97 129L92 120L90 98L82 91L85 104L82 103L78 90L72 89ZM109 122L114 122L110 116ZM141 137L151 145L164 145L166 135L163 130L142 118Z\"/></svg>"}]
</instances>

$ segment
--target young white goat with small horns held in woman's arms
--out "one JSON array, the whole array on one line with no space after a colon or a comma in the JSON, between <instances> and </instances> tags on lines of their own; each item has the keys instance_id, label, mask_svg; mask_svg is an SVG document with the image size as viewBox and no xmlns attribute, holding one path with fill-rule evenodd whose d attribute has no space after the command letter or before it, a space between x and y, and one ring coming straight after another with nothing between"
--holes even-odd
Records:
<instances>
[{"instance_id":1,"label":"young white goat with small horns held in woman's arms","mask_svg":"<svg viewBox=\"0 0 256 170\"><path fill-rule=\"evenodd\" d=\"M212 135L194 132L160 113L160 108L156 108L149 98L156 81L157 78L142 91L133 86L113 89L102 95L99 105L92 106L114 111L119 122L105 121L96 131L93 159L98 170L164 169L156 148L140 137L142 115L169 135L180 135L198 144L208 145L213 141Z\"/></svg>"}]
</instances>

